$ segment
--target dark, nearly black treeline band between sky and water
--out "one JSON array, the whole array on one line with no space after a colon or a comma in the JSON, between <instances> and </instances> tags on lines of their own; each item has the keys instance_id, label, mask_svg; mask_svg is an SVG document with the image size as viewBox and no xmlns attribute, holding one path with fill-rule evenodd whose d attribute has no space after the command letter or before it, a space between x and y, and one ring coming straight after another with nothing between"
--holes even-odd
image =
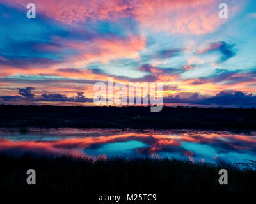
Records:
<instances>
[{"instance_id":1,"label":"dark, nearly black treeline band between sky and water","mask_svg":"<svg viewBox=\"0 0 256 204\"><path fill-rule=\"evenodd\" d=\"M134 129L256 129L255 108L84 107L0 105L0 127Z\"/></svg>"}]
</instances>

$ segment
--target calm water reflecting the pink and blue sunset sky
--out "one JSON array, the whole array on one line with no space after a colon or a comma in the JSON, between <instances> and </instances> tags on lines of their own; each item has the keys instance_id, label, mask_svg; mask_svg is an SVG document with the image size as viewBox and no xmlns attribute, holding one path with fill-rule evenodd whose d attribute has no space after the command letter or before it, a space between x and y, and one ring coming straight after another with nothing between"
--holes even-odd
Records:
<instances>
[{"instance_id":1,"label":"calm water reflecting the pink and blue sunset sky","mask_svg":"<svg viewBox=\"0 0 256 204\"><path fill-rule=\"evenodd\" d=\"M150 156L255 165L256 133L131 129L1 129L0 150L77 157Z\"/></svg>"}]
</instances>

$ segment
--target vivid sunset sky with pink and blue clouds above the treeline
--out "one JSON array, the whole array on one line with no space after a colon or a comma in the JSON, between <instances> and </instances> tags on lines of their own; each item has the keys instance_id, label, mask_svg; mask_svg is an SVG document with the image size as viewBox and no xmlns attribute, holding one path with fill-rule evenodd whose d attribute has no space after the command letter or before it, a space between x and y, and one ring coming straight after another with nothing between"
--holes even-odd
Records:
<instances>
[{"instance_id":1,"label":"vivid sunset sky with pink and blue clouds above the treeline","mask_svg":"<svg viewBox=\"0 0 256 204\"><path fill-rule=\"evenodd\" d=\"M0 0L0 104L92 106L113 77L162 82L168 106L256 106L255 22L254 0Z\"/></svg>"}]
</instances>

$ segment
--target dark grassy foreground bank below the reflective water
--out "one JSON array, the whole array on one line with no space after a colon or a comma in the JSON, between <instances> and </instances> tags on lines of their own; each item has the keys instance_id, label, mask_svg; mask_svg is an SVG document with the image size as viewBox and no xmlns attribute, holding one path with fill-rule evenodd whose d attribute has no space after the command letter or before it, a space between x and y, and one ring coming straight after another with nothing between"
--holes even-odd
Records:
<instances>
[{"instance_id":1,"label":"dark grassy foreground bank below the reflective water","mask_svg":"<svg viewBox=\"0 0 256 204\"><path fill-rule=\"evenodd\" d=\"M256 171L189 161L115 157L93 162L72 157L21 157L0 154L0 192L83 192L99 194L170 194L175 191L255 191ZM26 184L26 171L36 171L36 185ZM220 185L218 171L228 171Z\"/></svg>"}]
</instances>

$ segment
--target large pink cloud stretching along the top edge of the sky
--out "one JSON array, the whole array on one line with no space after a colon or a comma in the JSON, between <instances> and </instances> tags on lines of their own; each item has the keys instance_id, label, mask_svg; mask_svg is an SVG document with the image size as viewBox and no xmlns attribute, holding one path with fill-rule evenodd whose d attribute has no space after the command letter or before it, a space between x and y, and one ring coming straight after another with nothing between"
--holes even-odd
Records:
<instances>
[{"instance_id":1,"label":"large pink cloud stretching along the top edge of the sky","mask_svg":"<svg viewBox=\"0 0 256 204\"><path fill-rule=\"evenodd\" d=\"M27 0L0 0L12 6L23 7ZM94 20L118 20L134 17L143 27L182 34L206 34L223 22L218 18L219 0L34 0L36 10L65 24ZM232 10L232 7L230 8Z\"/></svg>"}]
</instances>

